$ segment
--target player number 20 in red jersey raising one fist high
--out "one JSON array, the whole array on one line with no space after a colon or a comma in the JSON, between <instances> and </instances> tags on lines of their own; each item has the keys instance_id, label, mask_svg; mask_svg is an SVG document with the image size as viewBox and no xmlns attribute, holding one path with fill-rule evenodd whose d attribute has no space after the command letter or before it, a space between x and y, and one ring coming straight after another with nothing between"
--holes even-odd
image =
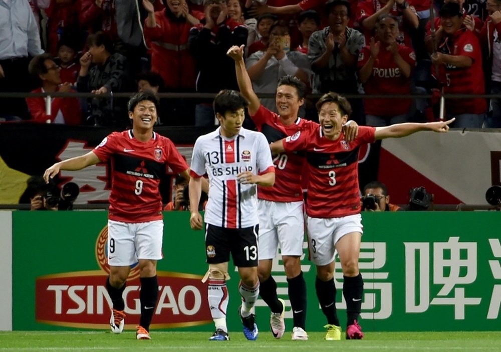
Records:
<instances>
[{"instance_id":1,"label":"player number 20 in red jersey raising one fist high","mask_svg":"<svg viewBox=\"0 0 501 352\"><path fill-rule=\"evenodd\" d=\"M227 53L235 60L236 78L242 95L249 101L248 112L268 142L274 142L314 122L298 117L304 103L306 86L298 78L285 76L279 80L275 102L280 114L264 107L253 90L243 61L243 46L232 46ZM354 128L353 128L354 127ZM353 124L351 133L356 132ZM301 271L304 241L303 191L301 173L304 157L297 153L281 153L274 159L276 182L273 187L258 187L260 219L259 266L260 294L272 313L270 326L276 338L285 332L284 300L278 298L277 282L271 275L273 258L280 243L282 260L289 285L293 310L292 339L306 340L306 282Z\"/></svg>"}]
</instances>

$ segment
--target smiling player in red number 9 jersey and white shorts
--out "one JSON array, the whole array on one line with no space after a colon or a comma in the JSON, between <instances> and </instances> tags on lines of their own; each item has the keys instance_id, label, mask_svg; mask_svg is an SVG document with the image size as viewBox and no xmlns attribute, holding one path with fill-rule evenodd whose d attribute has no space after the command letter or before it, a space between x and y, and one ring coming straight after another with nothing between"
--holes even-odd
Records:
<instances>
[{"instance_id":1,"label":"smiling player in red number 9 jersey and white shorts","mask_svg":"<svg viewBox=\"0 0 501 352\"><path fill-rule=\"evenodd\" d=\"M169 138L153 131L158 99L150 92L134 95L128 103L132 129L113 132L85 155L55 163L44 173L49 182L60 170L80 170L111 160L112 188L108 215L106 288L113 302L110 326L124 327L125 289L130 266L139 261L141 318L137 339L150 339L149 326L158 298L157 260L162 259L162 199L160 176L169 167L189 179L189 168Z\"/></svg>"}]
</instances>

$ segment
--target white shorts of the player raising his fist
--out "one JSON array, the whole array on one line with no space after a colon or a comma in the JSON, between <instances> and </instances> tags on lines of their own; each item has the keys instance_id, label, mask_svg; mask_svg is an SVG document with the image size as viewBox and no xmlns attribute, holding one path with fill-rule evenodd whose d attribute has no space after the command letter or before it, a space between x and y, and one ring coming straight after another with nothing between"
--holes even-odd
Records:
<instances>
[{"instance_id":1,"label":"white shorts of the player raising his fist","mask_svg":"<svg viewBox=\"0 0 501 352\"><path fill-rule=\"evenodd\" d=\"M258 258L273 259L280 243L282 255L303 255L305 218L302 201L258 199Z\"/></svg>"}]
</instances>

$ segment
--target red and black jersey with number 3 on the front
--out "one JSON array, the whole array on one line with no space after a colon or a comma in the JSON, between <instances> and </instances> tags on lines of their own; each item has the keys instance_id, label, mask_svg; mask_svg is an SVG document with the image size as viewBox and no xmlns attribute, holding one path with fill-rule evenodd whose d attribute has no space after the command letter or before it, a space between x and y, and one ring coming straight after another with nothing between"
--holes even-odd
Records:
<instances>
[{"instance_id":1,"label":"red and black jersey with number 3 on the front","mask_svg":"<svg viewBox=\"0 0 501 352\"><path fill-rule=\"evenodd\" d=\"M360 145L374 142L375 131L375 127L360 126L358 137L347 142L343 133L336 140L327 139L317 125L284 139L286 151L306 151L308 216L333 218L360 212L358 151Z\"/></svg>"}]
</instances>

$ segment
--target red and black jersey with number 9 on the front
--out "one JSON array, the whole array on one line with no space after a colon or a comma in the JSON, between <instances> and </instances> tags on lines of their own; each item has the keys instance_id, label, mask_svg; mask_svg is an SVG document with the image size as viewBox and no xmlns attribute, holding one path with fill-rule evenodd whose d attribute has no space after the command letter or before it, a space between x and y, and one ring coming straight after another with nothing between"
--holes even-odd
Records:
<instances>
[{"instance_id":1,"label":"red and black jersey with number 9 on the front","mask_svg":"<svg viewBox=\"0 0 501 352\"><path fill-rule=\"evenodd\" d=\"M93 150L101 161L111 161L110 220L147 222L162 219L160 177L188 169L174 143L158 133L147 142L132 130L113 132Z\"/></svg>"}]
</instances>

